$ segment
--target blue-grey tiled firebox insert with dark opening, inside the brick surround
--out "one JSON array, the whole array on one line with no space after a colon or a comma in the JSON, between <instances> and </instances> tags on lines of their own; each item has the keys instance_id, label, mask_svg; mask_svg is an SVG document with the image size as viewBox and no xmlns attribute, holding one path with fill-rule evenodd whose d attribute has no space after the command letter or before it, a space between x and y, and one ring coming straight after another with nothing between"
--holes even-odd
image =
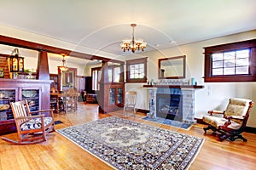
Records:
<instances>
[{"instance_id":1,"label":"blue-grey tiled firebox insert with dark opening, inside the brick surround","mask_svg":"<svg viewBox=\"0 0 256 170\"><path fill-rule=\"evenodd\" d=\"M180 88L157 88L156 116L183 120L183 94Z\"/></svg>"}]
</instances>

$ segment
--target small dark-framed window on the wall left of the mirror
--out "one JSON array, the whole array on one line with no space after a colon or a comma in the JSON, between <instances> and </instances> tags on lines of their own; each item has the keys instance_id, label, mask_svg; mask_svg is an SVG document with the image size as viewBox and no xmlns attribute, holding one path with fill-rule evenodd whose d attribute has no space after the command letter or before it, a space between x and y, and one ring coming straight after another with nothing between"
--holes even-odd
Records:
<instances>
[{"instance_id":1,"label":"small dark-framed window on the wall left of the mirror","mask_svg":"<svg viewBox=\"0 0 256 170\"><path fill-rule=\"evenodd\" d=\"M126 61L126 82L147 82L147 58Z\"/></svg>"}]
</instances>

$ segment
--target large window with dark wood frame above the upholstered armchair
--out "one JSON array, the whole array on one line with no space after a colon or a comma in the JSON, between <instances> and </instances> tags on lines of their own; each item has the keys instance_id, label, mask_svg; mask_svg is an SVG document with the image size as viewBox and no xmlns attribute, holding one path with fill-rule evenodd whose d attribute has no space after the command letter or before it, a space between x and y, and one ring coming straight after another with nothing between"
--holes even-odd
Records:
<instances>
[{"instance_id":1,"label":"large window with dark wood frame above the upholstered armchair","mask_svg":"<svg viewBox=\"0 0 256 170\"><path fill-rule=\"evenodd\" d=\"M205 48L205 82L255 82L256 39Z\"/></svg>"}]
</instances>

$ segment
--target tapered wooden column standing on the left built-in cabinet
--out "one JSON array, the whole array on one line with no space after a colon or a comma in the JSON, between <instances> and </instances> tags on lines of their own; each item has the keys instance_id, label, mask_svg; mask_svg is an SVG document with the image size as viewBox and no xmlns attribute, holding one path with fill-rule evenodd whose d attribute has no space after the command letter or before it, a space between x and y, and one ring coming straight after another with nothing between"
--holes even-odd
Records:
<instances>
[{"instance_id":1,"label":"tapered wooden column standing on the left built-in cabinet","mask_svg":"<svg viewBox=\"0 0 256 170\"><path fill-rule=\"evenodd\" d=\"M40 51L38 55L38 80L49 80L48 55L46 51Z\"/></svg>"}]
</instances>

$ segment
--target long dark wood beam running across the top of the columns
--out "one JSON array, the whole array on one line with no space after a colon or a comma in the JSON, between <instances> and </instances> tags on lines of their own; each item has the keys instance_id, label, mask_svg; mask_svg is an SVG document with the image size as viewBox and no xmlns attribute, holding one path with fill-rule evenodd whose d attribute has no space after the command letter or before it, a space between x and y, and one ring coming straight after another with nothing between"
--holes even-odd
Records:
<instances>
[{"instance_id":1,"label":"long dark wood beam running across the top of the columns","mask_svg":"<svg viewBox=\"0 0 256 170\"><path fill-rule=\"evenodd\" d=\"M21 39L14 38L14 37L6 37L3 35L0 35L0 44L19 47L19 48L33 49L33 50L37 50L37 51L46 51L46 52L52 53L52 54L61 54L61 55L64 54L64 55L73 56L73 57L76 57L79 59L90 59L90 60L98 59L98 60L102 60L105 62L111 61L113 63L119 63L121 65L125 64L124 61L120 61L117 59L108 59L108 58L101 57L101 56L84 54L84 53L71 51L71 50L64 49L64 48L56 48L53 46L49 46L49 45L45 45L45 44L41 44L41 43L37 43L37 42L29 42L26 40L21 40Z\"/></svg>"}]
</instances>

